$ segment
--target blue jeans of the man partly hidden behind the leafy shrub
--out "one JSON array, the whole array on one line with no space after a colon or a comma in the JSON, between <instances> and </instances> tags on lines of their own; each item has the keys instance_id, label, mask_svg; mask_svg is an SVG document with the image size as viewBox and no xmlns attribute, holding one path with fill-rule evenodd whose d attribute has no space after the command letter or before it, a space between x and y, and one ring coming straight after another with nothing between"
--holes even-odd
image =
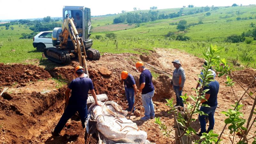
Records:
<instances>
[{"instance_id":1,"label":"blue jeans of the man partly hidden behind the leafy shrub","mask_svg":"<svg viewBox=\"0 0 256 144\"><path fill-rule=\"evenodd\" d=\"M215 113L216 108L217 108L217 106L214 106L214 107L203 107L203 106L201 106L201 108L200 108L201 111L208 114L208 119L209 119L208 131L213 130L213 127L214 127L214 113ZM202 115L202 116L199 115L198 116L198 119L199 119L200 125L201 125L201 133L206 132L205 118L206 118L206 115Z\"/></svg>"}]
</instances>

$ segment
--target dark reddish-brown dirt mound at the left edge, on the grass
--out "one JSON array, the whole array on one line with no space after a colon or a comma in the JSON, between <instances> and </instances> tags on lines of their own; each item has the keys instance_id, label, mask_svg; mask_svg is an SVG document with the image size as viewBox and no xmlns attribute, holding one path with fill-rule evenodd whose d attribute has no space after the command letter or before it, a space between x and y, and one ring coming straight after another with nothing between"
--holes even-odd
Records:
<instances>
[{"instance_id":1,"label":"dark reddish-brown dirt mound at the left edge, on the grass","mask_svg":"<svg viewBox=\"0 0 256 144\"><path fill-rule=\"evenodd\" d=\"M49 72L34 65L4 65L0 64L0 86L28 83L39 79L50 78ZM23 84L23 86L25 86Z\"/></svg>"}]
</instances>

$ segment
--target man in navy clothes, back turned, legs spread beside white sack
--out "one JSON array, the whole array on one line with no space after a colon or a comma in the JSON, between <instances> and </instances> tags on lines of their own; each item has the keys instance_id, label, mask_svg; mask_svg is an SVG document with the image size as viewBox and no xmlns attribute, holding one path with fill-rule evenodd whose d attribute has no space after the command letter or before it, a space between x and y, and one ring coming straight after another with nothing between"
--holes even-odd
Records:
<instances>
[{"instance_id":1,"label":"man in navy clothes, back turned, legs spread beside white sack","mask_svg":"<svg viewBox=\"0 0 256 144\"><path fill-rule=\"evenodd\" d=\"M101 106L100 103L98 103L96 93L93 89L92 80L90 78L87 78L87 75L84 74L83 67L76 67L76 76L77 78L71 81L65 92L65 101L67 107L63 115L61 116L59 123L56 125L55 129L52 130L52 135L54 136L59 135L60 131L63 129L69 118L73 116L76 112L78 112L79 114L83 128L85 127L84 123L87 118L87 97L89 90L92 93L95 103ZM72 91L69 98L70 90Z\"/></svg>"}]
</instances>

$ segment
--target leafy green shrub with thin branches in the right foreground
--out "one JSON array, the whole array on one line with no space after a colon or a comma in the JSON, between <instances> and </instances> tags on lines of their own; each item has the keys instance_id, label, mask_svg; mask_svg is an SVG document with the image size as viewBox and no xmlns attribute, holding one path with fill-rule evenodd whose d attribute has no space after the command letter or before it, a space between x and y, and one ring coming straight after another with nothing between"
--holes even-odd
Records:
<instances>
[{"instance_id":1,"label":"leafy green shrub with thin branches in the right foreground","mask_svg":"<svg viewBox=\"0 0 256 144\"><path fill-rule=\"evenodd\" d=\"M216 46L212 46L212 44L210 44L210 47L206 50L206 52L203 52L205 61L207 62L207 66L203 66L202 69L202 73L203 75L198 75L198 77L202 80L198 81L198 83L201 85L201 87L207 86L211 81L213 81L212 79L212 74L211 71L208 71L208 69L210 67L213 67L215 69L216 72L218 72L218 76L224 76L226 75L227 78L227 82L225 82L226 86L230 87L233 91L234 97L237 100L235 105L231 105L232 107L234 107L234 109L228 109L228 111L222 111L222 114L225 114L227 116L227 118L225 119L225 126L222 130L222 132L220 133L220 135L213 133L213 131L211 130L208 134L207 133L202 133L203 136L200 137L200 140L194 140L194 142L196 144L201 143L201 144L218 144L221 141L221 135L223 134L225 127L227 125L228 129L229 129L229 133L233 135L233 138L231 140L232 144L235 143L236 141L236 134L240 135L240 140L237 144L247 144L249 140L253 139L252 143L256 144L256 135L247 138L248 132L251 130L254 122L256 122L256 116L254 117L254 119L252 120L252 115L256 114L256 112L254 112L255 106L256 106L256 96L255 98L252 97L252 95L254 94L254 92L247 92L247 90L250 88L250 86L255 82L256 78L252 81L252 83L250 84L250 86L247 88L247 90L244 89L244 87L234 78L234 76L231 74L232 72L232 67L230 67L230 65L227 63L226 59L220 59L220 57L217 55L218 52L221 51L222 48L217 48ZM234 90L233 90L233 86L235 84L235 82L233 82L233 80L236 81L237 84L239 84L243 89L244 89L244 94L239 98L236 96ZM174 138L176 140L179 141L179 143L183 143L181 140L183 135L187 135L188 137L191 137L193 134L196 134L196 131L189 126L189 124L191 124L192 121L195 121L195 119L192 118L193 115L195 114L200 114L200 115L207 115L204 112L200 111L199 109L199 105L201 103L201 100L205 100L205 92L207 92L208 90L203 90L200 88L197 89L193 89L196 92L196 96L188 96L187 94L180 96L183 99L183 103L187 105L187 111L185 111L185 113L189 116L188 120L185 120L182 116L181 113L174 108L173 106L173 99L171 100L166 100L167 101L167 106L170 108L170 111L168 113L173 113L175 116L175 120L177 121L177 123L179 123L182 127L183 127L183 133L181 133L180 135L178 135L178 137L174 137L171 135L170 130L168 130L167 126L164 125L159 117L156 118L156 124L159 125L159 128L162 130L162 132L164 132L164 135L166 135L167 137L171 137ZM247 94L248 97L243 98L244 95ZM194 103L190 103L188 102L188 99L192 99L194 101ZM247 99L247 98L251 98L254 100L253 105L252 105L252 109L251 109L251 113L250 116L248 118L246 127L244 127L243 125L245 124L246 120L243 118L243 113L240 112L240 110L242 109L243 105L240 104L241 100ZM202 105L204 107L207 107L207 105ZM250 123L252 120L252 123ZM254 132L256 133L256 131Z\"/></svg>"}]
</instances>

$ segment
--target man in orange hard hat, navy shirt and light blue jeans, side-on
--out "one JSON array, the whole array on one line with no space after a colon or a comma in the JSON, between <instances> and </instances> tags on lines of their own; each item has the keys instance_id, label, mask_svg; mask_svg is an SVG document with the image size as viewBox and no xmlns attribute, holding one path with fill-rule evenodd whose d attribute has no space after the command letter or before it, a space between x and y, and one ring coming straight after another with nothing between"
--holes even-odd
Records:
<instances>
[{"instance_id":1,"label":"man in orange hard hat, navy shirt and light blue jeans, side-on","mask_svg":"<svg viewBox=\"0 0 256 144\"><path fill-rule=\"evenodd\" d=\"M141 72L140 74L140 89L142 104L145 109L145 116L141 120L148 120L155 118L155 110L152 101L154 96L154 85L152 83L152 75L148 69L143 66L141 61L136 62L136 69Z\"/></svg>"}]
</instances>

